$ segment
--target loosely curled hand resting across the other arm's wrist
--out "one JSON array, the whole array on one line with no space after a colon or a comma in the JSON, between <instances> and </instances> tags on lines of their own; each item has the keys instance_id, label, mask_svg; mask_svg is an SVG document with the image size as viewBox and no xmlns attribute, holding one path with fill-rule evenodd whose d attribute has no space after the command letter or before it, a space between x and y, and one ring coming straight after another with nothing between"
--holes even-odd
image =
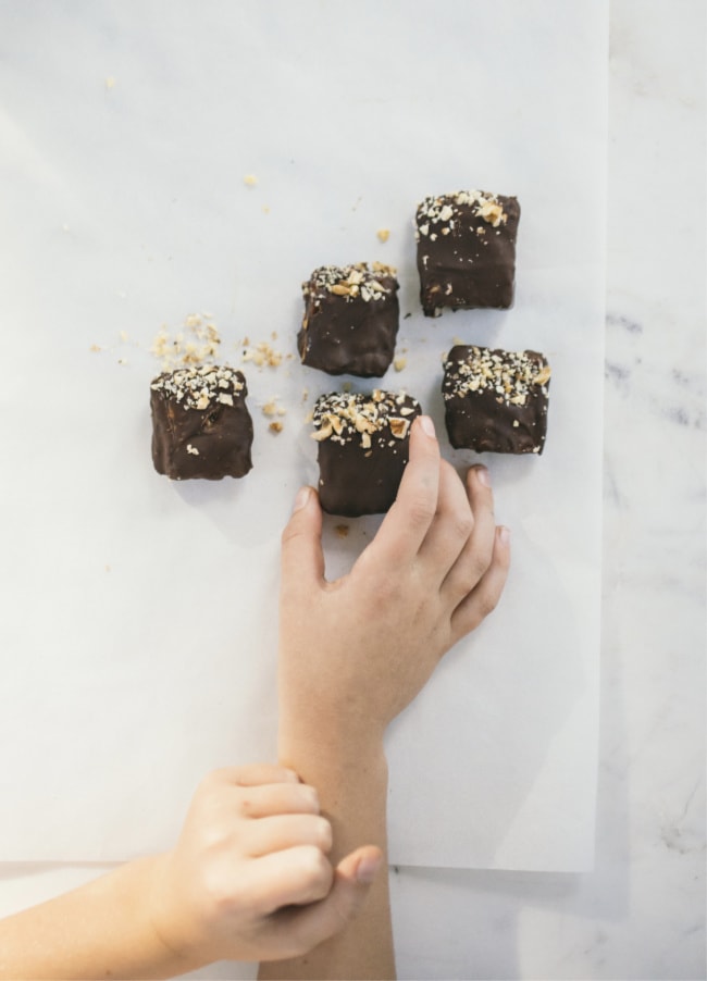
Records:
<instances>
[{"instance_id":1,"label":"loosely curled hand resting across the other arm's wrist","mask_svg":"<svg viewBox=\"0 0 707 981\"><path fill-rule=\"evenodd\" d=\"M317 792L292 770L214 771L159 867L153 926L185 964L303 954L355 916L381 860L368 846L334 869L331 846Z\"/></svg>"}]
</instances>

